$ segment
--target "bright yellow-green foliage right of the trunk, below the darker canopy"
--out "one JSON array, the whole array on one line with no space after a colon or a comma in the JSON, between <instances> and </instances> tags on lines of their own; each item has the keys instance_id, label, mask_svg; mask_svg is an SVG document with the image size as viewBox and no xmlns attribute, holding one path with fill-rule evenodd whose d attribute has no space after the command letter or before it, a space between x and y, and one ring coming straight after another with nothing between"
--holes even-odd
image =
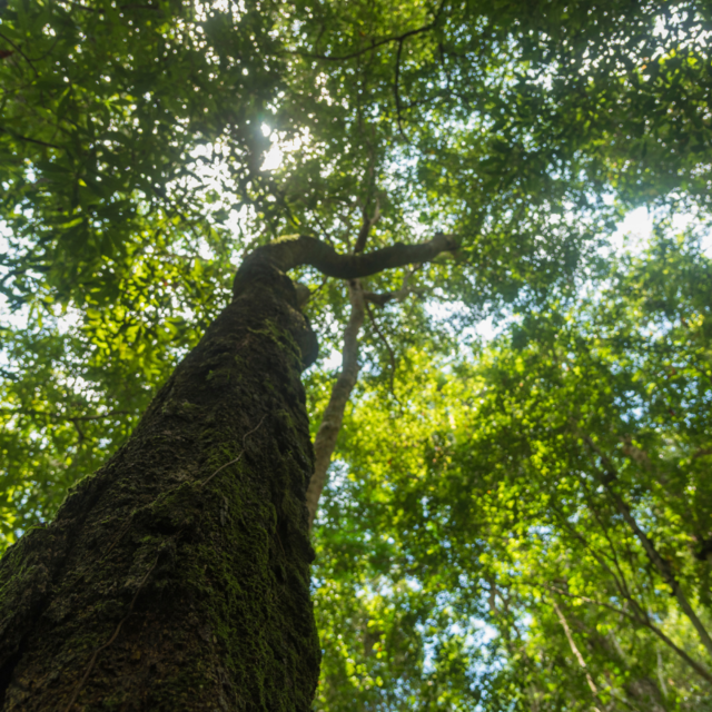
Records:
<instances>
[{"instance_id":1,"label":"bright yellow-green foliage right of the trunk, below the darker canopy","mask_svg":"<svg viewBox=\"0 0 712 712\"><path fill-rule=\"evenodd\" d=\"M324 709L347 684L407 709L369 685L418 646L403 674L432 709L709 704L709 651L621 505L709 630L710 269L661 238L472 356L412 353L406 411L384 412L376 376L318 531L320 615L358 602L349 643L324 641Z\"/></svg>"}]
</instances>

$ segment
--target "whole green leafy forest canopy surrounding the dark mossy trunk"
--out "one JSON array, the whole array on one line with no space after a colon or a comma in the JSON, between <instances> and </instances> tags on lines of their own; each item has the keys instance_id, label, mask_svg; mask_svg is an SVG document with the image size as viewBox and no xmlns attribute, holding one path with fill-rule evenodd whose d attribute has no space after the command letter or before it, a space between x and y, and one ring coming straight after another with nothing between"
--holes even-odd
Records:
<instances>
[{"instance_id":1,"label":"whole green leafy forest canopy surrounding the dark mossy trunk","mask_svg":"<svg viewBox=\"0 0 712 712\"><path fill-rule=\"evenodd\" d=\"M2 548L127 439L256 247L449 235L362 280L315 709L712 710L710 16L0 3ZM291 276L316 434L353 304Z\"/></svg>"}]
</instances>

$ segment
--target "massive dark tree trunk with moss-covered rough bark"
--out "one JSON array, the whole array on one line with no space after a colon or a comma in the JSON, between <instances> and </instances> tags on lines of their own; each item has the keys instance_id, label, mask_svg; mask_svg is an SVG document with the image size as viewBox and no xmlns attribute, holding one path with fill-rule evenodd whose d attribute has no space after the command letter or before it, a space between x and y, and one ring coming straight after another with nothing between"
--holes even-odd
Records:
<instances>
[{"instance_id":1,"label":"massive dark tree trunk with moss-covered rough bark","mask_svg":"<svg viewBox=\"0 0 712 712\"><path fill-rule=\"evenodd\" d=\"M310 709L316 339L288 277L238 275L128 443L0 563L3 711Z\"/></svg>"}]
</instances>

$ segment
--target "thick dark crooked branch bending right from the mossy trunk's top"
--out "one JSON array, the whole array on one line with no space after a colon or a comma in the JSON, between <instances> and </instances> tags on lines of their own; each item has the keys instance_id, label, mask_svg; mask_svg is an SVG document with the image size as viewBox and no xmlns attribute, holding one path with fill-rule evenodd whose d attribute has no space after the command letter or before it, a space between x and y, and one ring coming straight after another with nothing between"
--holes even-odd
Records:
<instances>
[{"instance_id":1,"label":"thick dark crooked branch bending right from the mossy trunk's top","mask_svg":"<svg viewBox=\"0 0 712 712\"><path fill-rule=\"evenodd\" d=\"M284 273L300 266L310 266L327 277L358 279L375 275L384 269L404 267L415 263L427 263L441 253L457 249L453 235L438 233L432 240L419 245L398 243L366 255L342 255L332 246L306 235L284 237L250 253L235 275L235 291L240 290L243 280L251 267L268 261Z\"/></svg>"}]
</instances>

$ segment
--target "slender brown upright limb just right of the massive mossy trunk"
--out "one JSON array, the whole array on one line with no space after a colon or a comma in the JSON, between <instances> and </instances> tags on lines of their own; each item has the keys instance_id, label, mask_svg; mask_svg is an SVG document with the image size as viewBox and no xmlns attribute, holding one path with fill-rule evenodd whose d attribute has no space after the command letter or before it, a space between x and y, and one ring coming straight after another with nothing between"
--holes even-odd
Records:
<instances>
[{"instance_id":1,"label":"slender brown upright limb just right of the massive mossy trunk","mask_svg":"<svg viewBox=\"0 0 712 712\"><path fill-rule=\"evenodd\" d=\"M314 439L316 461L314 474L307 488L307 508L309 510L309 528L314 524L319 497L326 485L326 473L336 448L336 438L342 428L344 411L352 390L358 379L358 332L364 324L364 291L360 283L354 279L348 285L348 297L352 303L352 314L344 329L344 352L342 372L332 389L328 405L324 411L322 424Z\"/></svg>"}]
</instances>

